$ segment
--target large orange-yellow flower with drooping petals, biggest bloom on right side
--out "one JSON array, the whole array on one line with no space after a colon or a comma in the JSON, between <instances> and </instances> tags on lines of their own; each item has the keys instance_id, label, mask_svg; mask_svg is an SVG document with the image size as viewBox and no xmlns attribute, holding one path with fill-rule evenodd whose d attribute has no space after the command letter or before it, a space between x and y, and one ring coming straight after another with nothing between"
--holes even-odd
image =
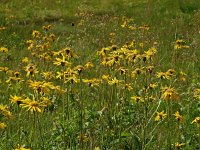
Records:
<instances>
[{"instance_id":1,"label":"large orange-yellow flower with drooping petals, biggest bloom on right side","mask_svg":"<svg viewBox=\"0 0 200 150\"><path fill-rule=\"evenodd\" d=\"M162 92L163 92L162 98L164 100L169 100L169 99L178 100L179 99L178 93L176 92L174 88L164 87L162 88Z\"/></svg>"}]
</instances>

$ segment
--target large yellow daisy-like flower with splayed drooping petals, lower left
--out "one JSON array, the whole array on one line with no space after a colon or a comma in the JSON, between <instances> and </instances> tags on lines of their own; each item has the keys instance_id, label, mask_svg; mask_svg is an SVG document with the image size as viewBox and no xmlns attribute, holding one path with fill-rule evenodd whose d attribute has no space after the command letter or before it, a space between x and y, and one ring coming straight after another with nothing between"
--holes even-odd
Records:
<instances>
[{"instance_id":1,"label":"large yellow daisy-like flower with splayed drooping petals, lower left","mask_svg":"<svg viewBox=\"0 0 200 150\"><path fill-rule=\"evenodd\" d=\"M27 108L27 111L32 112L42 112L43 108L46 107L44 103L38 102L35 100L35 97L33 96L33 100L26 98L23 100L23 103L20 104L22 108Z\"/></svg>"}]
</instances>

